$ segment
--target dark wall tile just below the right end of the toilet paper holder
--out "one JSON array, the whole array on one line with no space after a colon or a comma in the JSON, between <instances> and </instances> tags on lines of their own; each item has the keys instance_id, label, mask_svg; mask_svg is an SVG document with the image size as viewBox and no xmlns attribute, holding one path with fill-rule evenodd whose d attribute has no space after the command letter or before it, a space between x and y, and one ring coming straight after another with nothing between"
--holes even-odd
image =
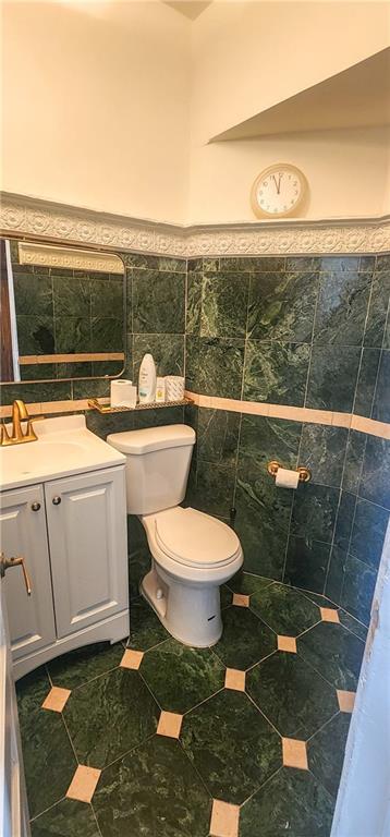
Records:
<instances>
[{"instance_id":1,"label":"dark wall tile just below the right end of the toilet paper holder","mask_svg":"<svg viewBox=\"0 0 390 837\"><path fill-rule=\"evenodd\" d=\"M330 544L333 536L339 490L325 485L300 484L294 492L291 534Z\"/></svg>"}]
</instances>

